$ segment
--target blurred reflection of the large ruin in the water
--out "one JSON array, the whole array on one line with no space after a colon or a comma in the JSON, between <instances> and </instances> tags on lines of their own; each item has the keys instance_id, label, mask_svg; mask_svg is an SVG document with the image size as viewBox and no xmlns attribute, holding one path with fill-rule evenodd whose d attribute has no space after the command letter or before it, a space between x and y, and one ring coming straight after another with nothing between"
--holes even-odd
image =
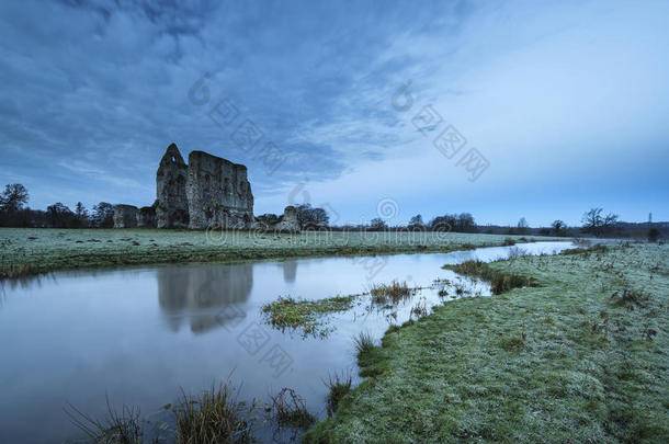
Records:
<instances>
[{"instance_id":1,"label":"blurred reflection of the large ruin in the water","mask_svg":"<svg viewBox=\"0 0 669 444\"><path fill-rule=\"evenodd\" d=\"M251 264L196 264L157 271L158 301L172 331L188 319L191 331L203 333L243 317L240 308L253 286Z\"/></svg>"}]
</instances>

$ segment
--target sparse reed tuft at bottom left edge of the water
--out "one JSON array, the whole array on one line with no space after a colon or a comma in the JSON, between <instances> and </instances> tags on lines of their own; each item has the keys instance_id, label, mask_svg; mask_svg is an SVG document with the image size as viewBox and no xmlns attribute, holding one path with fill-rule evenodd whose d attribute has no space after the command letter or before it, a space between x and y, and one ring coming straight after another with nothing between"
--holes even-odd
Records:
<instances>
[{"instance_id":1,"label":"sparse reed tuft at bottom left edge of the water","mask_svg":"<svg viewBox=\"0 0 669 444\"><path fill-rule=\"evenodd\" d=\"M139 408L123 406L116 411L106 398L107 414L97 420L71 403L65 409L70 421L93 443L99 444L140 444L143 443L143 420Z\"/></svg>"}]
</instances>

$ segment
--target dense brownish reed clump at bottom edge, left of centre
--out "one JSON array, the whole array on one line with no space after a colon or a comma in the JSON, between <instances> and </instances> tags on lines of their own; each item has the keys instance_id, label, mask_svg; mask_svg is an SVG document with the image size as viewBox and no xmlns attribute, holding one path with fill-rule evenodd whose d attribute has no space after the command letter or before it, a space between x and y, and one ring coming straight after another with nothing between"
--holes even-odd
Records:
<instances>
[{"instance_id":1,"label":"dense brownish reed clump at bottom edge, left of centre","mask_svg":"<svg viewBox=\"0 0 669 444\"><path fill-rule=\"evenodd\" d=\"M212 386L201 396L182 392L173 409L177 422L177 443L250 443L253 442L252 414L254 402L238 401L227 384Z\"/></svg>"}]
</instances>

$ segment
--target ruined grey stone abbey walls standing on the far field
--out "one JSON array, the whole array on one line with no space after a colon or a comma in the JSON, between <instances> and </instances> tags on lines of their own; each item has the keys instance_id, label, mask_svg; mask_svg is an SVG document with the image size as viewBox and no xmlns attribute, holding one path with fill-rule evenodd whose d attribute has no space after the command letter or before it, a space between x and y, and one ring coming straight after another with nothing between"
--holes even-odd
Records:
<instances>
[{"instance_id":1,"label":"ruined grey stone abbey walls standing on the far field","mask_svg":"<svg viewBox=\"0 0 669 444\"><path fill-rule=\"evenodd\" d=\"M186 164L171 144L156 173L154 205L116 205L114 227L257 228L247 168L203 151L191 152ZM286 207L277 224L262 228L298 231L295 208Z\"/></svg>"}]
</instances>

